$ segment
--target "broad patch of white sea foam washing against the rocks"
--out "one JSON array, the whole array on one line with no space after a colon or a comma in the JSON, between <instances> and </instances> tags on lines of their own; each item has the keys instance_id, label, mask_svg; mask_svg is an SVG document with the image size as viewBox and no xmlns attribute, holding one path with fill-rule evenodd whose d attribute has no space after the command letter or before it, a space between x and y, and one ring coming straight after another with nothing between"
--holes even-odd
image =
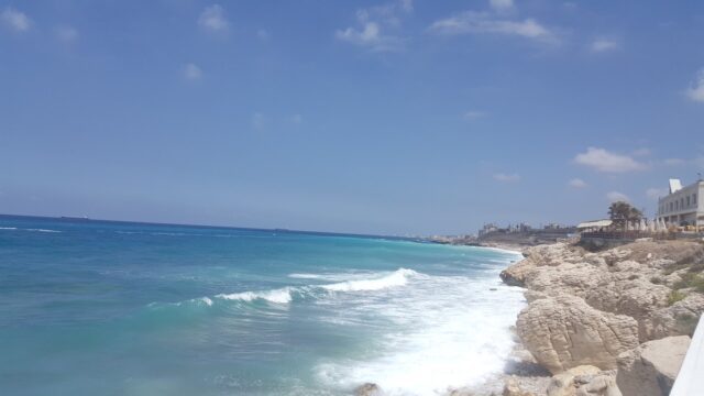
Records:
<instances>
[{"instance_id":1,"label":"broad patch of white sea foam washing against the rocks","mask_svg":"<svg viewBox=\"0 0 704 396\"><path fill-rule=\"evenodd\" d=\"M323 386L344 392L371 382L386 395L425 396L477 384L506 364L509 328L524 306L521 290L495 277L459 276L424 276L413 288L370 301L348 309L344 323L375 315L394 324L384 327L373 353L321 362L315 371Z\"/></svg>"}]
</instances>

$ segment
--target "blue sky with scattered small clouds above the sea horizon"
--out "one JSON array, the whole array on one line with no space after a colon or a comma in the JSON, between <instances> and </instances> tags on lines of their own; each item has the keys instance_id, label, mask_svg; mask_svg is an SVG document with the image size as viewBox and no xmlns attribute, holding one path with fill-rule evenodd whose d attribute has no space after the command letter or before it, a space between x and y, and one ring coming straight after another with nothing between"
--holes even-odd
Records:
<instances>
[{"instance_id":1,"label":"blue sky with scattered small clouds above the sea horizon","mask_svg":"<svg viewBox=\"0 0 704 396\"><path fill-rule=\"evenodd\" d=\"M0 213L375 234L652 216L704 2L0 0Z\"/></svg>"}]
</instances>

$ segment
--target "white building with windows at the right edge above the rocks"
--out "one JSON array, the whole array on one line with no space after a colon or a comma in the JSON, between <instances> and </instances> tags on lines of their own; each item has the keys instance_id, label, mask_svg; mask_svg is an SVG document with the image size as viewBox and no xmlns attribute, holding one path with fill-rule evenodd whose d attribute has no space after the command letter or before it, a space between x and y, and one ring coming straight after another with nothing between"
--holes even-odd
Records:
<instances>
[{"instance_id":1,"label":"white building with windows at the right edge above the rocks","mask_svg":"<svg viewBox=\"0 0 704 396\"><path fill-rule=\"evenodd\" d=\"M704 182L682 187L670 179L670 194L658 200L658 219L674 226L704 226Z\"/></svg>"}]
</instances>

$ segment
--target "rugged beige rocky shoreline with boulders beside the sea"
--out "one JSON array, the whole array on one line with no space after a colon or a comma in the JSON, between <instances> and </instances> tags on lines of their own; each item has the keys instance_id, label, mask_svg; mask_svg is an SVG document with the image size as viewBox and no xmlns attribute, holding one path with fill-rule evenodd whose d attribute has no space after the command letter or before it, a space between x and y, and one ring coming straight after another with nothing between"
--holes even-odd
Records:
<instances>
[{"instance_id":1,"label":"rugged beige rocky shoreline with boulders beside the sea","mask_svg":"<svg viewBox=\"0 0 704 396\"><path fill-rule=\"evenodd\" d=\"M640 241L602 252L556 243L524 255L501 275L526 288L516 332L529 353L516 359L549 373L507 370L501 392L455 395L669 394L704 311L703 243Z\"/></svg>"}]
</instances>

